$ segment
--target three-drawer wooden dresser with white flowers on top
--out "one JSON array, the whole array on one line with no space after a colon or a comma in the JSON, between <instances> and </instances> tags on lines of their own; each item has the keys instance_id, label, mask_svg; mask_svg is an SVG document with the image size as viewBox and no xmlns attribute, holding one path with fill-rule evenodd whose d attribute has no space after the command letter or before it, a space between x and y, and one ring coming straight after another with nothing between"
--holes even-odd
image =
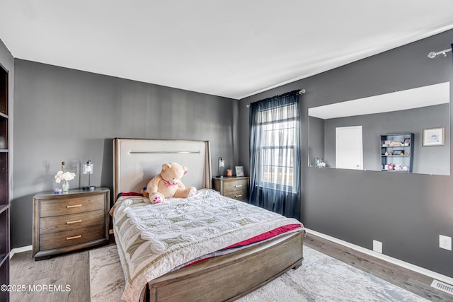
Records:
<instances>
[{"instance_id":1,"label":"three-drawer wooden dresser with white flowers on top","mask_svg":"<svg viewBox=\"0 0 453 302\"><path fill-rule=\"evenodd\" d=\"M33 257L108 243L110 190L42 192L33 197Z\"/></svg>"}]
</instances>

